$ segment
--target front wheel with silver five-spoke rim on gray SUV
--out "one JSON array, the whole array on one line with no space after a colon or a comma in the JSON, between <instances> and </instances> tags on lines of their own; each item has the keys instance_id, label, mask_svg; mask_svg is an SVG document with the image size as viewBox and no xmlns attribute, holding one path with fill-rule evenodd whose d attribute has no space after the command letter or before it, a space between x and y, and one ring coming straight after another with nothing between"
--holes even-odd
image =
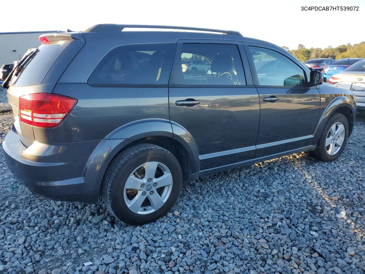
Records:
<instances>
[{"instance_id":1,"label":"front wheel with silver five-spoke rim on gray SUV","mask_svg":"<svg viewBox=\"0 0 365 274\"><path fill-rule=\"evenodd\" d=\"M343 131L340 133L340 127L343 126ZM332 128L332 130L331 130ZM335 129L335 134L340 133L337 138L332 134ZM343 133L343 134L342 134ZM331 138L331 137L335 138ZM328 119L326 125L324 126L323 132L319 138L318 144L314 151L310 152L310 156L323 162L329 162L337 159L343 149L345 149L347 138L349 137L349 122L347 121L345 115L341 113L333 114L330 119ZM326 141L330 142L330 145L326 146ZM339 143L342 141L342 145L339 147ZM335 143L334 143L335 142ZM331 144L332 143L332 144ZM335 144L335 146L333 146ZM333 149L333 150L332 150Z\"/></svg>"}]
</instances>

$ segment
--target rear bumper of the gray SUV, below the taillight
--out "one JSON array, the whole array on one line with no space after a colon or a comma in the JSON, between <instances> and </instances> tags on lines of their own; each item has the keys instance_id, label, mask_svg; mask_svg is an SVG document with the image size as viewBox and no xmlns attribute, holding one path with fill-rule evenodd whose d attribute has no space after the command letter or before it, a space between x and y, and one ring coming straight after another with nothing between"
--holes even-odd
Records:
<instances>
[{"instance_id":1,"label":"rear bumper of the gray SUV, below the taillight","mask_svg":"<svg viewBox=\"0 0 365 274\"><path fill-rule=\"evenodd\" d=\"M100 182L85 182L84 171L99 142L34 142L26 148L13 126L3 141L5 163L32 193L57 201L95 203Z\"/></svg>"}]
</instances>

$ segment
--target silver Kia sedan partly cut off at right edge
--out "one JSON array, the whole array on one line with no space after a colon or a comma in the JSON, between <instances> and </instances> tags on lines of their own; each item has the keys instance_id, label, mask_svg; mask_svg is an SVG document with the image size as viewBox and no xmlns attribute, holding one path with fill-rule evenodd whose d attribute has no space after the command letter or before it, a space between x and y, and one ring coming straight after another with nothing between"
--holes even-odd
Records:
<instances>
[{"instance_id":1,"label":"silver Kia sedan partly cut off at right edge","mask_svg":"<svg viewBox=\"0 0 365 274\"><path fill-rule=\"evenodd\" d=\"M353 91L356 95L357 110L365 111L365 59L331 76L328 83Z\"/></svg>"}]
</instances>

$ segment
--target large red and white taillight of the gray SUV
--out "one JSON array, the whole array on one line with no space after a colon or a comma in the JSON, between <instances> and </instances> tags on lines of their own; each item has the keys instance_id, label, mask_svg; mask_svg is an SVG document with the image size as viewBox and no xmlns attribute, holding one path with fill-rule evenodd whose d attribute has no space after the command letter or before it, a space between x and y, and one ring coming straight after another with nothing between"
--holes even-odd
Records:
<instances>
[{"instance_id":1,"label":"large red and white taillight of the gray SUV","mask_svg":"<svg viewBox=\"0 0 365 274\"><path fill-rule=\"evenodd\" d=\"M19 97L20 121L39 128L59 125L77 100L51 93L35 93Z\"/></svg>"}]
</instances>

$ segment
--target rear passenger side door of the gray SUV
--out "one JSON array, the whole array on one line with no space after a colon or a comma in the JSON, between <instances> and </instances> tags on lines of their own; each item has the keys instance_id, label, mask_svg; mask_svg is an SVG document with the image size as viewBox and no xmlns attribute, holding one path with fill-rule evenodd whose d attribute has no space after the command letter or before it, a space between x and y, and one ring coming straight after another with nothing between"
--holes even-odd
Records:
<instances>
[{"instance_id":1,"label":"rear passenger side door of the gray SUV","mask_svg":"<svg viewBox=\"0 0 365 274\"><path fill-rule=\"evenodd\" d=\"M212 60L210 70L183 74L182 64L189 58ZM169 81L170 121L197 143L202 171L254 158L260 105L242 61L249 68L238 41L178 40Z\"/></svg>"}]
</instances>

